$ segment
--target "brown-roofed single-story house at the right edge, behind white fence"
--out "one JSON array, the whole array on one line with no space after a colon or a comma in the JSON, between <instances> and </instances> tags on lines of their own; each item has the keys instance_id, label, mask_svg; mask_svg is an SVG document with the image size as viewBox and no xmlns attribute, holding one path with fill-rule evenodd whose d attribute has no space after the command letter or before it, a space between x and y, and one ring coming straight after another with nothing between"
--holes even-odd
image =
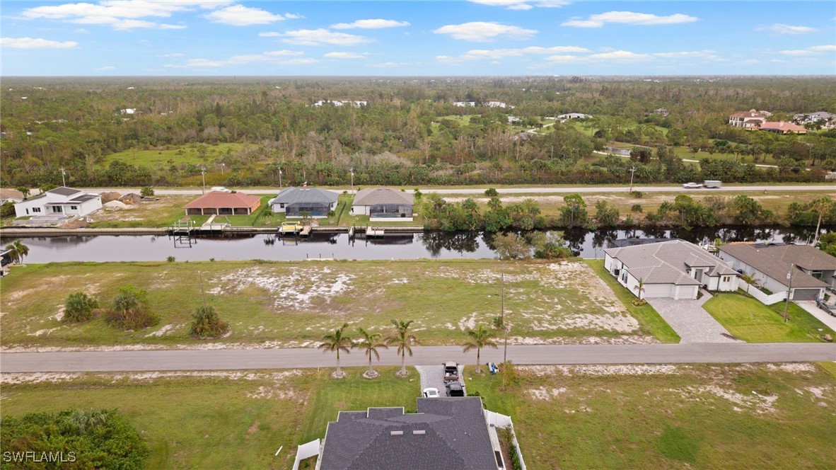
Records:
<instances>
[{"instance_id":1,"label":"brown-roofed single-story house at the right edge, behind white fence","mask_svg":"<svg viewBox=\"0 0 836 470\"><path fill-rule=\"evenodd\" d=\"M732 243L721 246L719 256L776 294L787 292L793 273L791 300L813 300L836 286L836 258L808 245Z\"/></svg>"}]
</instances>

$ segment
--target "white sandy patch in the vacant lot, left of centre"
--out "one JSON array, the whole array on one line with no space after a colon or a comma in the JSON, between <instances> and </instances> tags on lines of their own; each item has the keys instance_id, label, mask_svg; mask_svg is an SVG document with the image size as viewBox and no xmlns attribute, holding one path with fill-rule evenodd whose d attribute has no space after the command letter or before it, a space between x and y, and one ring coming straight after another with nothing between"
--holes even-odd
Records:
<instances>
[{"instance_id":1,"label":"white sandy patch in the vacant lot, left of centre","mask_svg":"<svg viewBox=\"0 0 836 470\"><path fill-rule=\"evenodd\" d=\"M228 290L240 292L251 285L267 290L273 296L273 306L283 309L308 309L314 301L329 303L339 294L351 288L353 274L334 273L331 268L296 267L288 273L276 274L263 268L239 269L220 278L212 279L217 284L209 290L222 294Z\"/></svg>"}]
</instances>

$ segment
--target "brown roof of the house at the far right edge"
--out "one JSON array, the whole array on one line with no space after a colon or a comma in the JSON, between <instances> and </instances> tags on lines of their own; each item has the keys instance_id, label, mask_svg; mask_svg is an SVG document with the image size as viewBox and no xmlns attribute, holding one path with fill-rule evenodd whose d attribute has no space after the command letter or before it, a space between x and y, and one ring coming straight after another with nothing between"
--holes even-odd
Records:
<instances>
[{"instance_id":1,"label":"brown roof of the house at the far right edge","mask_svg":"<svg viewBox=\"0 0 836 470\"><path fill-rule=\"evenodd\" d=\"M808 245L758 247L751 243L734 243L721 246L720 251L741 260L783 285L789 284L787 273L791 264L810 271L836 270L836 258ZM793 274L793 287L821 288L827 285L808 273Z\"/></svg>"}]
</instances>

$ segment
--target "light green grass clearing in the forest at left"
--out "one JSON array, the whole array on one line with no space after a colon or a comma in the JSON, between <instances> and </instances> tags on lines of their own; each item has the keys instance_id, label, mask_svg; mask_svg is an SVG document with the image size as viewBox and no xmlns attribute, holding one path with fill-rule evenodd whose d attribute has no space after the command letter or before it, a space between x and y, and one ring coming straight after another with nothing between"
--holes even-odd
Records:
<instances>
[{"instance_id":1,"label":"light green grass clearing in the forest at left","mask_svg":"<svg viewBox=\"0 0 836 470\"><path fill-rule=\"evenodd\" d=\"M169 149L130 149L120 151L104 157L99 167L106 167L112 161L121 161L134 166L148 166L150 168L168 168L171 165L207 165L213 166L213 162L228 153L235 153L246 147L246 144L219 143L206 146L174 146ZM206 157L201 156L201 148L206 150ZM210 170L212 171L212 170ZM217 170L221 171L218 167ZM200 176L200 175L198 175Z\"/></svg>"}]
</instances>

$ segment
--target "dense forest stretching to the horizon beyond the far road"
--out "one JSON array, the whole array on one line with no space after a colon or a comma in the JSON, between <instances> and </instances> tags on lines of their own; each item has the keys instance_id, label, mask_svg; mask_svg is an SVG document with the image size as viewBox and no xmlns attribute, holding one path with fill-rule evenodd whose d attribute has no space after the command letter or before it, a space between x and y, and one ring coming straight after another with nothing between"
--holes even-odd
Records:
<instances>
[{"instance_id":1,"label":"dense forest stretching to the horizon beyond the far road","mask_svg":"<svg viewBox=\"0 0 836 470\"><path fill-rule=\"evenodd\" d=\"M356 185L623 183L631 166L637 183L822 181L836 170L836 130L726 124L749 109L836 112L827 78L9 78L0 98L3 186L58 184L62 168L76 186L196 185L201 171L275 186L347 185L351 169ZM568 112L593 117L546 124ZM613 142L641 147L630 159L594 153ZM247 145L212 152L218 143ZM694 165L677 148L728 158ZM108 160L132 149L200 159ZM756 166L767 157L775 166Z\"/></svg>"}]
</instances>

